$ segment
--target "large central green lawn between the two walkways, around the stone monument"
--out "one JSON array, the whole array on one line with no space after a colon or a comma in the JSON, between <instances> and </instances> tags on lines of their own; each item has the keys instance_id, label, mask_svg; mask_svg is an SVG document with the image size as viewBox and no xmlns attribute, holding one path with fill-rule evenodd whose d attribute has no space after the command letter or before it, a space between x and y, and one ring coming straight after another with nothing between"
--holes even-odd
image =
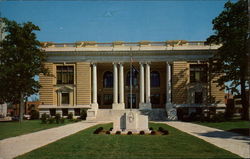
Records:
<instances>
[{"instance_id":1,"label":"large central green lawn between the two walkways, around the stone monument","mask_svg":"<svg viewBox=\"0 0 250 159\"><path fill-rule=\"evenodd\" d=\"M153 135L95 135L98 127L108 130L111 124L97 125L68 136L18 159L154 159L154 158L240 158L201 139L165 124L150 124L167 129L166 136Z\"/></svg>"}]
</instances>

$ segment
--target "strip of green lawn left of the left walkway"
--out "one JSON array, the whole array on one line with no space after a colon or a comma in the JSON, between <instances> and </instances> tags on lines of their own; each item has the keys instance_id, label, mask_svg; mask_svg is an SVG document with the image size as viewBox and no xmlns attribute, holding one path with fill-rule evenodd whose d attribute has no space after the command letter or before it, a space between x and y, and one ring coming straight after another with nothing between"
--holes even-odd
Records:
<instances>
[{"instance_id":1,"label":"strip of green lawn left of the left walkway","mask_svg":"<svg viewBox=\"0 0 250 159\"><path fill-rule=\"evenodd\" d=\"M21 124L19 122L0 122L0 140L68 123L70 123L68 120L65 120L64 124L41 124L41 120L24 120Z\"/></svg>"}]
</instances>

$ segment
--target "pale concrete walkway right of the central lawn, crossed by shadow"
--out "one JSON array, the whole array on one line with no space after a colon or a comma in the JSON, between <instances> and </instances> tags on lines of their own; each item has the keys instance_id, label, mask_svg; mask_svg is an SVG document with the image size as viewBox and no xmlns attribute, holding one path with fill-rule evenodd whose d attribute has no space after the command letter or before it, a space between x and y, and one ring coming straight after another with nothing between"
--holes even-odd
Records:
<instances>
[{"instance_id":1,"label":"pale concrete walkway right of the central lawn, crossed by shadow","mask_svg":"<svg viewBox=\"0 0 250 159\"><path fill-rule=\"evenodd\" d=\"M167 121L157 123L165 123L243 158L250 158L250 137L187 122Z\"/></svg>"}]
</instances>

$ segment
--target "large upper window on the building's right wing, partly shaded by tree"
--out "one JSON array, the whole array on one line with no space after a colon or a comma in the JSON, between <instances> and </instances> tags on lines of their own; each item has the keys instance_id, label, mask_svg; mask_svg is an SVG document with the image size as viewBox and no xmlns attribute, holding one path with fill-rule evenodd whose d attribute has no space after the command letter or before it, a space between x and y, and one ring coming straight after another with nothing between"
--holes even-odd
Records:
<instances>
[{"instance_id":1,"label":"large upper window on the building's right wing, partly shaded by tree","mask_svg":"<svg viewBox=\"0 0 250 159\"><path fill-rule=\"evenodd\" d=\"M191 64L190 65L190 83L207 82L207 65Z\"/></svg>"}]
</instances>

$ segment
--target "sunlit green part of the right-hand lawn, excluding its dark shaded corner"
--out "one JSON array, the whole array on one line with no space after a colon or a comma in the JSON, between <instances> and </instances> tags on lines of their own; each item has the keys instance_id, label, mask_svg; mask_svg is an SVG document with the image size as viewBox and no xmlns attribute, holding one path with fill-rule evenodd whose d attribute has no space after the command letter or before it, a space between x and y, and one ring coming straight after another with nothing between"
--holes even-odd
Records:
<instances>
[{"instance_id":1,"label":"sunlit green part of the right-hand lawn, excluding its dark shaded corner","mask_svg":"<svg viewBox=\"0 0 250 159\"><path fill-rule=\"evenodd\" d=\"M244 121L244 120L232 120L225 122L195 122L195 123L226 131L231 129L250 128L249 121Z\"/></svg>"}]
</instances>

